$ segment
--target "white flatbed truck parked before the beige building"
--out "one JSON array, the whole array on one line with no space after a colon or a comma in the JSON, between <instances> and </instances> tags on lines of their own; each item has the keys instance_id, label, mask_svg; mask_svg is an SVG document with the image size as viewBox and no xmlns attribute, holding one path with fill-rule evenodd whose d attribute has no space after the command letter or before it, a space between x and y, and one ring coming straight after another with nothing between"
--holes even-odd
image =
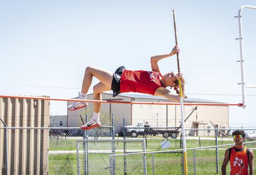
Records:
<instances>
[{"instance_id":1,"label":"white flatbed truck parked before the beige building","mask_svg":"<svg viewBox=\"0 0 256 175\"><path fill-rule=\"evenodd\" d=\"M150 128L147 122L138 122L137 125L128 125L125 126L126 129L126 136L131 137L138 137L138 135L153 135L156 136L157 134L162 134L164 138L176 138L179 135L179 131L177 129L154 129Z\"/></svg>"}]
</instances>

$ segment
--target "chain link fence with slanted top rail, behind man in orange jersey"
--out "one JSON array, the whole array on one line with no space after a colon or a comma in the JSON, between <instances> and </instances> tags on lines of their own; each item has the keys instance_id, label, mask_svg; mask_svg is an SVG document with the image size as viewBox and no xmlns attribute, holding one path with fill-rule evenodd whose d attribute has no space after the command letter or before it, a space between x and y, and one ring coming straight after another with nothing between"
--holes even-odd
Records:
<instances>
[{"instance_id":1,"label":"chain link fence with slanted top rail, behind man in orange jersey","mask_svg":"<svg viewBox=\"0 0 256 175\"><path fill-rule=\"evenodd\" d=\"M189 175L217 175L221 173L221 165L225 151L234 144L208 146L201 148L187 149L187 165ZM256 141L245 143L250 149L256 149ZM146 156L146 163L141 158ZM123 159L131 160L126 162L126 173L124 172ZM182 175L183 150L154 151L144 153L126 153L110 155L110 167L115 163L115 170L111 170L115 175ZM115 162L113 161L115 160ZM146 169L146 171L145 171ZM230 166L227 165L227 173Z\"/></svg>"}]
</instances>

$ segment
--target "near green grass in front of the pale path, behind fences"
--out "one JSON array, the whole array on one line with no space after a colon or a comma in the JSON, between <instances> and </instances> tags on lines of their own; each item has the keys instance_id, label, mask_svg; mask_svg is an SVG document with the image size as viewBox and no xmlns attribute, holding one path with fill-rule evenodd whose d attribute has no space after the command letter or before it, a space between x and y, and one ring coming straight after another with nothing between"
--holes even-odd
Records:
<instances>
[{"instance_id":1,"label":"near green grass in front of the pale path, behind fences","mask_svg":"<svg viewBox=\"0 0 256 175\"><path fill-rule=\"evenodd\" d=\"M222 164L222 157L225 150L220 150L219 155L219 172ZM193 151L187 152L188 174L193 174ZM106 175L109 174L109 154L97 157L95 154L89 153L89 174ZM147 174L152 174L152 154L147 154ZM81 162L80 162L81 163ZM123 175L124 156L116 157L116 175ZM142 156L126 156L126 172L133 175L143 174ZM159 153L154 155L155 174L181 175L181 153ZM82 165L80 165L82 166ZM229 165L227 166L229 167ZM80 168L83 174L83 168ZM49 175L75 175L77 174L77 155L58 154L49 156ZM203 150L196 152L196 174L197 175L217 175L216 173L216 157L215 150Z\"/></svg>"}]
</instances>

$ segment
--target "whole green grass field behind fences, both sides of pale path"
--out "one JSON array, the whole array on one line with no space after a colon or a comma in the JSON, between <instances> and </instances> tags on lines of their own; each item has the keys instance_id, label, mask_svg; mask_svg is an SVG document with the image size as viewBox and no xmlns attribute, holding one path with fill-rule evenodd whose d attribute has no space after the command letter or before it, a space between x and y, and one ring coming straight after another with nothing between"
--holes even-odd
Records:
<instances>
[{"instance_id":1,"label":"whole green grass field behind fences, both sides of pale path","mask_svg":"<svg viewBox=\"0 0 256 175\"><path fill-rule=\"evenodd\" d=\"M195 137L196 138L196 137ZM119 138L120 139L120 138ZM161 148L161 142L167 141L164 138L147 139L147 151L162 151L170 149L180 149L180 139L169 139L171 147L168 149ZM233 141L218 141L218 144L232 144ZM50 139L49 151L52 151L49 155L49 175L61 174L61 175L75 175L77 174L77 155L76 140L75 139ZM196 148L203 146L214 146L215 140L201 139L200 143L198 138L186 140L187 148ZM91 148L94 150L111 150L111 146L108 143L91 144ZM116 149L123 149L123 143L119 142L115 145ZM141 149L140 146L138 149ZM127 145L127 149L131 149ZM137 148L135 148L137 149ZM224 158L225 148L218 149L218 163L219 174L222 161ZM58 153L56 151L67 151L64 153ZM116 152L118 153L118 152ZM122 152L119 152L122 153ZM216 173L216 151L215 149L208 150L196 150L196 174L197 175L217 175ZM82 156L81 156L82 155ZM89 153L89 174L106 175L109 174L109 155L110 153ZM80 153L80 160L84 156ZM154 170L155 174L170 174L181 175L183 168L181 164L182 153L158 153L154 154ZM138 156L117 156L116 157L116 175L123 175L124 160L126 160L126 172L128 174L140 175L143 174L143 159L142 155ZM152 174L152 154L147 154L147 173ZM187 150L187 162L188 162L188 174L194 172L194 160L193 151ZM83 162L80 163L81 174L83 173ZM229 165L227 165L227 171Z\"/></svg>"}]
</instances>

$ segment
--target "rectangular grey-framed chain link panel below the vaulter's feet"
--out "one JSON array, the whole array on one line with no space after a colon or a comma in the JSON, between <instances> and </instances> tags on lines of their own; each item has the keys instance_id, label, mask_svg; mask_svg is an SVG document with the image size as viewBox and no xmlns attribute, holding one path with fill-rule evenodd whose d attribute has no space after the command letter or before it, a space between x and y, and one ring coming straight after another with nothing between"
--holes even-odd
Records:
<instances>
[{"instance_id":1,"label":"rectangular grey-framed chain link panel below the vaulter's feet","mask_svg":"<svg viewBox=\"0 0 256 175\"><path fill-rule=\"evenodd\" d=\"M91 150L93 146L88 146L88 144L92 144L96 146L94 150ZM101 143L101 146L99 145ZM102 143L108 143L106 145L102 146ZM122 143L122 144L118 144ZM97 146L98 145L98 146ZM118 147L119 145L119 147ZM141 146L141 147L140 147ZM97 162L99 163L99 159L104 160L106 158L106 161L109 163L108 169L111 175L115 175L116 173L116 160L115 157L108 157L108 156L102 156L104 154L111 155L118 155L116 152L120 152L122 148L123 153L145 153L146 152L146 146L145 146L145 140L144 139L128 139L128 140L77 140L76 141L76 147L77 147L77 174L84 174L89 175L92 172L89 172L89 161L90 162ZM119 148L119 149L118 149ZM129 148L129 149L127 149ZM134 148L134 149L131 149ZM138 149L139 148L139 149ZM121 151L122 152L122 151ZM94 156L91 156L89 158L89 154L93 154ZM112 158L112 159L111 159ZM147 175L147 166L146 166L146 155L143 154L142 156L143 161L143 168L144 168L144 175ZM82 161L81 161L82 160ZM82 165L81 165L81 163ZM124 172L126 171L126 157L123 159L123 168ZM83 167L83 168L82 168ZM102 167L102 165L99 165L99 167ZM81 172L80 169L84 169L85 171ZM99 169L97 169L97 172L93 173L106 173L101 172Z\"/></svg>"}]
</instances>

